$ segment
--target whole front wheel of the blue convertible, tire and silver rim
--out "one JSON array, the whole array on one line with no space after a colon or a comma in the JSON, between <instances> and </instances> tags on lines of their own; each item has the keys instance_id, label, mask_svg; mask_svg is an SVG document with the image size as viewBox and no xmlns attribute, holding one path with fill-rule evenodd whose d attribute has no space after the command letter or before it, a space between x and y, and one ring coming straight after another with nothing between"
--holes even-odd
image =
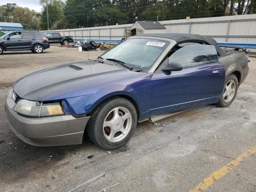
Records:
<instances>
[{"instance_id":1,"label":"whole front wheel of the blue convertible, tire and silver rim","mask_svg":"<svg viewBox=\"0 0 256 192\"><path fill-rule=\"evenodd\" d=\"M93 112L87 126L88 136L100 147L113 150L126 144L137 125L137 112L127 99L108 99Z\"/></svg>"}]
</instances>

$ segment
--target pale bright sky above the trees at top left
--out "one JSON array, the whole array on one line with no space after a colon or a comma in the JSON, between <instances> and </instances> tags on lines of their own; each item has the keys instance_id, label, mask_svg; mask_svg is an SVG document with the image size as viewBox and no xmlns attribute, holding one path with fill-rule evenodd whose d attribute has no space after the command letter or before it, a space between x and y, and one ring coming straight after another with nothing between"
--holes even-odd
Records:
<instances>
[{"instance_id":1,"label":"pale bright sky above the trees at top left","mask_svg":"<svg viewBox=\"0 0 256 192\"><path fill-rule=\"evenodd\" d=\"M65 2L65 0L62 1ZM0 6L6 3L16 3L20 7L28 7L34 9L36 12L40 12L42 9L39 0L0 0Z\"/></svg>"}]
</instances>

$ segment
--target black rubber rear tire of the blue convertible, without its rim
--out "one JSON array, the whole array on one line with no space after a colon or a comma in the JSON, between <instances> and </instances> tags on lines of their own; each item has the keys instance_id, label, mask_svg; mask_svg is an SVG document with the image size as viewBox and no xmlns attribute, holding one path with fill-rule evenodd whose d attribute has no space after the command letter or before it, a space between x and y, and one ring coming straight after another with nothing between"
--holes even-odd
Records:
<instances>
[{"instance_id":1,"label":"black rubber rear tire of the blue convertible, without its rim","mask_svg":"<svg viewBox=\"0 0 256 192\"><path fill-rule=\"evenodd\" d=\"M234 93L232 94L232 99L229 100L228 102L225 101L225 97L223 96L224 95L224 92L225 92L225 87L226 85L228 85L228 83L230 82L234 82L235 84L235 91ZM232 102L234 101L234 99L236 98L236 93L237 93L237 90L238 90L238 80L237 80L237 77L234 75L234 74L230 74L230 76L228 76L228 78L225 80L225 83L224 83L224 88L223 88L223 91L222 91L222 95L221 95L221 98L220 100L216 103L216 105L220 106L220 107L228 107L230 104L232 104Z\"/></svg>"}]
</instances>

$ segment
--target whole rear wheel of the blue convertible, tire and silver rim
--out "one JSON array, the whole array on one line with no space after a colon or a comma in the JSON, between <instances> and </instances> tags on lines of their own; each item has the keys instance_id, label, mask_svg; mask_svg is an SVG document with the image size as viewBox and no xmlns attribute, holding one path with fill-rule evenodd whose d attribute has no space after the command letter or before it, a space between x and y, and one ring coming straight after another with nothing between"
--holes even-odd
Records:
<instances>
[{"instance_id":1,"label":"whole rear wheel of the blue convertible, tire and silver rim","mask_svg":"<svg viewBox=\"0 0 256 192\"><path fill-rule=\"evenodd\" d=\"M229 106L236 98L237 90L238 90L237 77L234 74L231 74L230 76L228 76L228 78L225 81L221 98L218 101L218 103L216 103L216 105L220 107Z\"/></svg>"}]
</instances>

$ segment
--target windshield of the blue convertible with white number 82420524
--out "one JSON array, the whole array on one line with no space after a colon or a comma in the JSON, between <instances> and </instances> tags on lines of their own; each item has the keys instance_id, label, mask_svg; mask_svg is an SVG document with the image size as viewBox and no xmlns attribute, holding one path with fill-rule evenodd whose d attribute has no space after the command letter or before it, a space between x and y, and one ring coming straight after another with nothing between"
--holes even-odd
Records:
<instances>
[{"instance_id":1,"label":"windshield of the blue convertible with white number 82420524","mask_svg":"<svg viewBox=\"0 0 256 192\"><path fill-rule=\"evenodd\" d=\"M101 55L103 59L116 59L128 66L148 71L168 46L168 41L131 38Z\"/></svg>"}]
</instances>

